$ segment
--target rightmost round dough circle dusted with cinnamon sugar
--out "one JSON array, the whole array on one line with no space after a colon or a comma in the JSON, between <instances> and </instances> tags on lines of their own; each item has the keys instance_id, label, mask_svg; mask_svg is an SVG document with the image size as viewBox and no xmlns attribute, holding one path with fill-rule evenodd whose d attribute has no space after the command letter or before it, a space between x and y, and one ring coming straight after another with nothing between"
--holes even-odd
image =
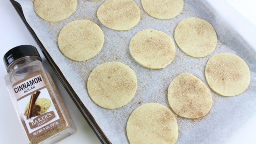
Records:
<instances>
[{"instance_id":1,"label":"rightmost round dough circle dusted with cinnamon sugar","mask_svg":"<svg viewBox=\"0 0 256 144\"><path fill-rule=\"evenodd\" d=\"M212 56L205 67L210 88L222 96L236 96L250 84L250 69L239 56L230 53Z\"/></svg>"}]
</instances>

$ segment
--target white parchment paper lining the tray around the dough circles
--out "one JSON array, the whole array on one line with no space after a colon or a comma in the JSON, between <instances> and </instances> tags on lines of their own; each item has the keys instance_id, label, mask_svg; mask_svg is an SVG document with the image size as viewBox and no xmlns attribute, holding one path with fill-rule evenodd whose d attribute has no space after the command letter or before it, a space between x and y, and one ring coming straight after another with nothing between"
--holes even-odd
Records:
<instances>
[{"instance_id":1,"label":"white parchment paper lining the tray around the dough circles","mask_svg":"<svg viewBox=\"0 0 256 144\"><path fill-rule=\"evenodd\" d=\"M222 143L247 119L256 114L256 52L234 30L230 29L225 20L222 20L221 16L204 0L185 0L182 13L172 20L157 20L148 16L141 8L140 0L135 0L142 13L140 23L132 30L125 32L108 29L99 22L96 11L104 1L78 0L76 12L68 19L56 23L38 18L34 13L32 1L17 1L22 6L28 24L113 144L128 143L125 132L126 122L131 112L138 106L148 102L158 102L170 108L167 89L172 79L178 74L189 72L206 84L204 77L206 62L211 56L222 52L236 54L246 61L251 72L250 86L243 94L230 98L219 96L211 90L214 103L210 113L204 118L190 120L175 115L179 125L177 143ZM216 50L205 58L187 56L176 46L176 57L162 70L146 69L132 59L128 46L130 39L138 31L152 28L165 32L174 40L174 28L178 22L190 16L200 17L210 22L216 29L218 39L225 45L218 40ZM102 28L105 36L104 46L99 54L85 62L69 60L61 54L56 43L63 26L78 19L95 22ZM104 109L94 104L86 90L86 81L93 68L108 61L129 65L138 80L138 89L132 101L115 110Z\"/></svg>"}]
</instances>

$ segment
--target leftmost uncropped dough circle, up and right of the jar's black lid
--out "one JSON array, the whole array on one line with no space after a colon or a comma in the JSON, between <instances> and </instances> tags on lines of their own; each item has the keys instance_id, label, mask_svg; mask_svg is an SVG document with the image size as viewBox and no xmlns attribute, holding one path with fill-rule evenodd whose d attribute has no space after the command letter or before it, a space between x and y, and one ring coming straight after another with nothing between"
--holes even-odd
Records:
<instances>
[{"instance_id":1,"label":"leftmost uncropped dough circle, up and right of the jar's black lid","mask_svg":"<svg viewBox=\"0 0 256 144\"><path fill-rule=\"evenodd\" d=\"M58 45L62 54L71 60L84 61L100 52L104 34L89 20L74 20L60 31Z\"/></svg>"}]
</instances>

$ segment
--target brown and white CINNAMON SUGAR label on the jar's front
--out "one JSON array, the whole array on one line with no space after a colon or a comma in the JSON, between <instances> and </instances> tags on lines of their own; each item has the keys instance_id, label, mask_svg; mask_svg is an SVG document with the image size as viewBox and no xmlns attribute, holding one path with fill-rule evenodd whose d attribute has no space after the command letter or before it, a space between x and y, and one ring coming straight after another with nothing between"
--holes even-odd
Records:
<instances>
[{"instance_id":1,"label":"brown and white CINNAMON SUGAR label on the jar's front","mask_svg":"<svg viewBox=\"0 0 256 144\"><path fill-rule=\"evenodd\" d=\"M40 73L16 82L12 89L31 137L60 124L60 117Z\"/></svg>"}]
</instances>

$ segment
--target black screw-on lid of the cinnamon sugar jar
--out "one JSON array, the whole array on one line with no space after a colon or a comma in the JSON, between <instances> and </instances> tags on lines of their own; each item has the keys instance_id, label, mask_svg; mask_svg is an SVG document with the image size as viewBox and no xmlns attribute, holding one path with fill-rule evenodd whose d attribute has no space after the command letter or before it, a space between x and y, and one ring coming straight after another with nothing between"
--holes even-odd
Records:
<instances>
[{"instance_id":1,"label":"black screw-on lid of the cinnamon sugar jar","mask_svg":"<svg viewBox=\"0 0 256 144\"><path fill-rule=\"evenodd\" d=\"M38 51L34 46L21 45L16 46L10 49L8 52L6 52L6 54L4 55L4 64L7 68L12 62L14 62L14 60L17 60L25 56L38 56L42 61Z\"/></svg>"}]
</instances>

